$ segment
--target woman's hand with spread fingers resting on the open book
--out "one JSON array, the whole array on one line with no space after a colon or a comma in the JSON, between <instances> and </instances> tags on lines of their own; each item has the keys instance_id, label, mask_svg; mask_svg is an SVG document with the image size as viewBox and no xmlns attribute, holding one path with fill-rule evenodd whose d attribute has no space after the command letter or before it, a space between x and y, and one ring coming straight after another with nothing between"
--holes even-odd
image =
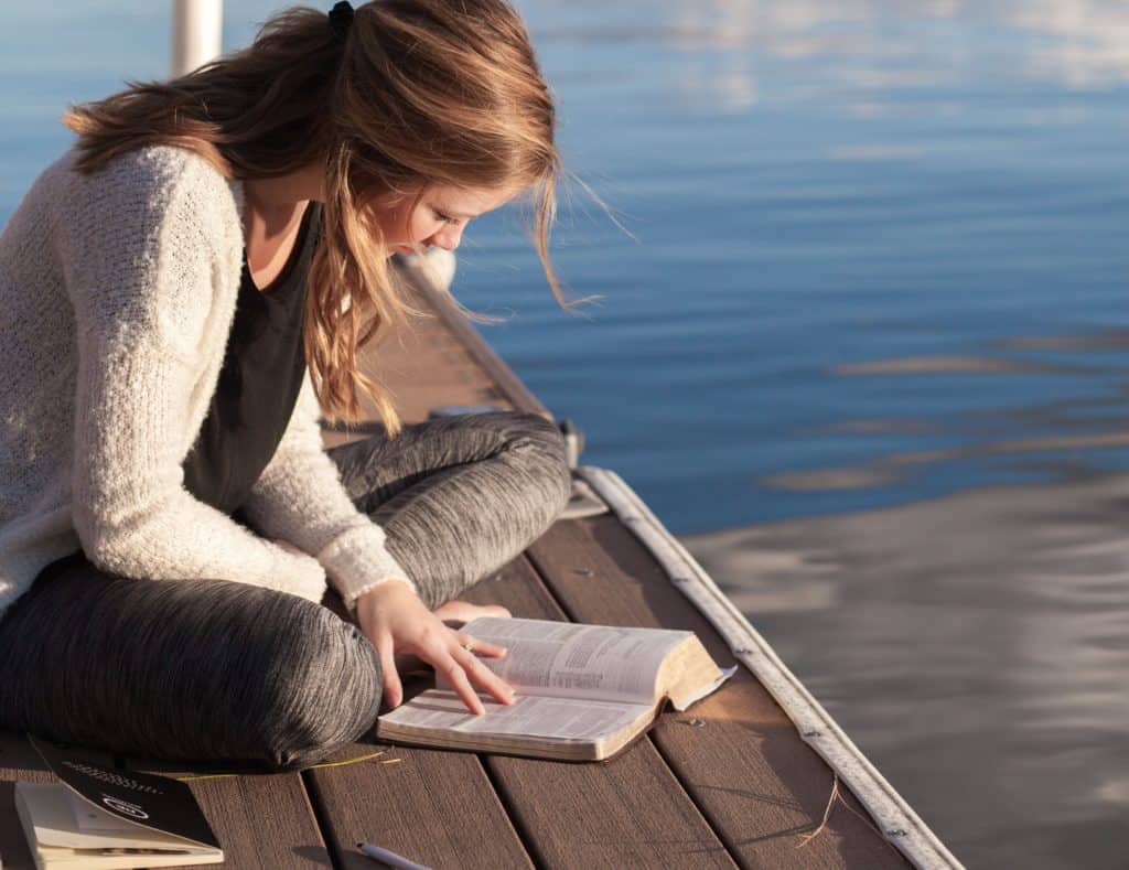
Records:
<instances>
[{"instance_id":1,"label":"woman's hand with spread fingers resting on the open book","mask_svg":"<svg viewBox=\"0 0 1129 870\"><path fill-rule=\"evenodd\" d=\"M376 647L384 674L384 697L390 706L403 701L395 653L406 652L443 674L467 709L481 715L482 701L471 687L473 680L504 704L514 703L514 689L473 652L463 648L469 635L448 627L431 613L406 583L380 583L357 599L357 622ZM506 650L485 641L474 642L474 652L500 657Z\"/></svg>"}]
</instances>

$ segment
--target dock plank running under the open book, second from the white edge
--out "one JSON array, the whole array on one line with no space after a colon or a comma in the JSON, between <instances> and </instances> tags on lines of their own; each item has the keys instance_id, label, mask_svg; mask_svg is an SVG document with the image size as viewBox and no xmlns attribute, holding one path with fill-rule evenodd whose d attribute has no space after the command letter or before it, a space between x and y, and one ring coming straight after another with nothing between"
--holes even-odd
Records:
<instances>
[{"instance_id":1,"label":"dock plank running under the open book, second from the white edge","mask_svg":"<svg viewBox=\"0 0 1129 870\"><path fill-rule=\"evenodd\" d=\"M567 619L523 556L462 596L515 616ZM542 867L735 867L645 737L602 764L484 756Z\"/></svg>"}]
</instances>

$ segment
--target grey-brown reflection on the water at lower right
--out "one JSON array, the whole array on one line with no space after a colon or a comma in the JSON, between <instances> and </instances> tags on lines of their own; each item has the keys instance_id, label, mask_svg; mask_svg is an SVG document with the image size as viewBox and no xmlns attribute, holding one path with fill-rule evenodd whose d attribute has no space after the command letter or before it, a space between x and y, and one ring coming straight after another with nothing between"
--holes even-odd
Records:
<instances>
[{"instance_id":1,"label":"grey-brown reflection on the water at lower right","mask_svg":"<svg viewBox=\"0 0 1129 870\"><path fill-rule=\"evenodd\" d=\"M970 867L1126 867L1129 476L683 541Z\"/></svg>"}]
</instances>

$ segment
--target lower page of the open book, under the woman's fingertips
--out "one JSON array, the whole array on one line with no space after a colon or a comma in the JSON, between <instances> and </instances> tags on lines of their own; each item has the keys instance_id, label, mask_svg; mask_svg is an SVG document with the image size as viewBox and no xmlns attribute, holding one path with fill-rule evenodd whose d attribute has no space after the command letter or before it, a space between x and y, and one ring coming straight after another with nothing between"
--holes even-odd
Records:
<instances>
[{"instance_id":1,"label":"lower page of the open book, under the woman's fingertips","mask_svg":"<svg viewBox=\"0 0 1129 870\"><path fill-rule=\"evenodd\" d=\"M544 695L519 695L507 706L483 697L485 715L474 715L449 689L432 688L380 717L380 722L456 733L590 741L615 733L647 713L649 704L613 704Z\"/></svg>"}]
</instances>

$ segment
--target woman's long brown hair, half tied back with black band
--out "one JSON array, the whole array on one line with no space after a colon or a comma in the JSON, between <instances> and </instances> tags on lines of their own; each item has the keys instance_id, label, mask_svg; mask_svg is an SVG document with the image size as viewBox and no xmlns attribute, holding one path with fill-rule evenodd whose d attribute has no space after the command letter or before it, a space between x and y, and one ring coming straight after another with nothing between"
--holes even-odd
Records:
<instances>
[{"instance_id":1,"label":"woman's long brown hair, half tied back with black band","mask_svg":"<svg viewBox=\"0 0 1129 870\"><path fill-rule=\"evenodd\" d=\"M332 420L360 418L360 388L391 433L401 428L385 389L357 362L364 344L412 310L374 219L386 194L422 184L530 191L549 284L572 305L549 261L561 173L553 100L505 0L377 0L340 34L324 11L294 7L239 52L170 81L128 85L63 116L79 134L79 170L148 144L190 149L229 178L324 161L305 353Z\"/></svg>"}]
</instances>

